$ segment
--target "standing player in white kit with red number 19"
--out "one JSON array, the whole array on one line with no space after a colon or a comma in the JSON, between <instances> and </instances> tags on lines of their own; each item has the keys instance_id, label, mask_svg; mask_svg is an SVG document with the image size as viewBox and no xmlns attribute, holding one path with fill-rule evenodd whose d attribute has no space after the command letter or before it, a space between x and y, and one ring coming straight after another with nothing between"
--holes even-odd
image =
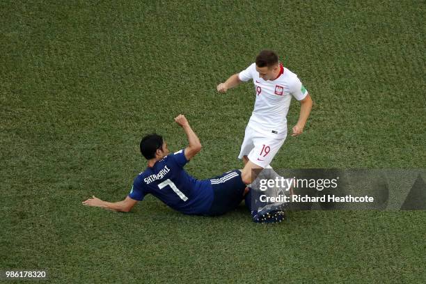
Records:
<instances>
[{"instance_id":1,"label":"standing player in white kit with red number 19","mask_svg":"<svg viewBox=\"0 0 426 284\"><path fill-rule=\"evenodd\" d=\"M284 68L278 61L278 55L271 50L262 50L255 63L233 74L219 84L217 90L226 93L228 89L251 79L255 88L255 106L239 153L239 159L243 159L245 164L242 171L245 184L255 180L252 170L271 168L269 164L287 136L286 116L292 97L301 103L299 120L292 128L292 136L302 134L313 104L297 75Z\"/></svg>"}]
</instances>

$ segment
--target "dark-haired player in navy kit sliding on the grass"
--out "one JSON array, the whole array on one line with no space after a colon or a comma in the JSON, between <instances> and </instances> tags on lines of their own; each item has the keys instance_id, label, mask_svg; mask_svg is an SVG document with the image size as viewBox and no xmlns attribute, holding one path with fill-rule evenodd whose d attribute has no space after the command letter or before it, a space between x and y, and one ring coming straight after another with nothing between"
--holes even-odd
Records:
<instances>
[{"instance_id":1,"label":"dark-haired player in navy kit sliding on the grass","mask_svg":"<svg viewBox=\"0 0 426 284\"><path fill-rule=\"evenodd\" d=\"M216 178L196 180L184 170L184 165L200 152L201 143L185 116L179 115L175 122L187 134L187 148L171 154L161 136L150 134L143 137L140 147L143 157L148 160L148 167L134 179L132 190L125 200L109 203L93 196L83 201L83 204L129 212L145 195L152 194L183 214L218 216L234 210L244 198L250 210L251 192L242 181L241 171L234 170ZM274 223L281 221L284 216L281 207L267 207L251 212L253 221L259 223Z\"/></svg>"}]
</instances>

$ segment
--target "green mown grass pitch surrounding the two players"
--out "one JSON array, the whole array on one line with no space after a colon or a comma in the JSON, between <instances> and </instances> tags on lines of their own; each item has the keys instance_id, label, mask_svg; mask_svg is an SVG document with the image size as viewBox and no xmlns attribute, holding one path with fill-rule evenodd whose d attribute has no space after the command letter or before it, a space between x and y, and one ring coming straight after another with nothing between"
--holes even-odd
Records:
<instances>
[{"instance_id":1,"label":"green mown grass pitch surrounding the two players","mask_svg":"<svg viewBox=\"0 0 426 284\"><path fill-rule=\"evenodd\" d=\"M232 168L253 86L216 84L274 49L314 100L275 168L424 168L424 1L1 1L0 270L51 283L425 283L426 214L240 210L184 216L123 199L143 134L203 143L196 178ZM299 115L293 100L287 116Z\"/></svg>"}]
</instances>

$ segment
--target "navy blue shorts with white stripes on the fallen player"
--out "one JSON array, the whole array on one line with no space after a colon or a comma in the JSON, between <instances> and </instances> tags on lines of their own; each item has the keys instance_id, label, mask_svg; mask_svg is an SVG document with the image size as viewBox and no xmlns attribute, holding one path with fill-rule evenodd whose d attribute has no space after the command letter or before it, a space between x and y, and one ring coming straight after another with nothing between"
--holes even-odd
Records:
<instances>
[{"instance_id":1,"label":"navy blue shorts with white stripes on the fallen player","mask_svg":"<svg viewBox=\"0 0 426 284\"><path fill-rule=\"evenodd\" d=\"M246 184L242 182L241 171L228 171L216 178L210 178L214 199L207 215L218 216L234 210L244 200Z\"/></svg>"}]
</instances>

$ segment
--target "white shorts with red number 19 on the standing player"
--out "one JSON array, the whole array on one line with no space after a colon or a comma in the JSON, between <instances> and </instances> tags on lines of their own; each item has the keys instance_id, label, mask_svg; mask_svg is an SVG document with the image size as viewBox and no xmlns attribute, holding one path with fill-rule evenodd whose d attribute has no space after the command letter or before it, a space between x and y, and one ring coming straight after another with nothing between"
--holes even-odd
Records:
<instances>
[{"instance_id":1,"label":"white shorts with red number 19 on the standing player","mask_svg":"<svg viewBox=\"0 0 426 284\"><path fill-rule=\"evenodd\" d=\"M244 156L247 156L253 164L265 168L271 164L272 159L274 159L284 141L285 136L278 139L267 137L265 134L261 134L247 126L238 158L242 159Z\"/></svg>"}]
</instances>

